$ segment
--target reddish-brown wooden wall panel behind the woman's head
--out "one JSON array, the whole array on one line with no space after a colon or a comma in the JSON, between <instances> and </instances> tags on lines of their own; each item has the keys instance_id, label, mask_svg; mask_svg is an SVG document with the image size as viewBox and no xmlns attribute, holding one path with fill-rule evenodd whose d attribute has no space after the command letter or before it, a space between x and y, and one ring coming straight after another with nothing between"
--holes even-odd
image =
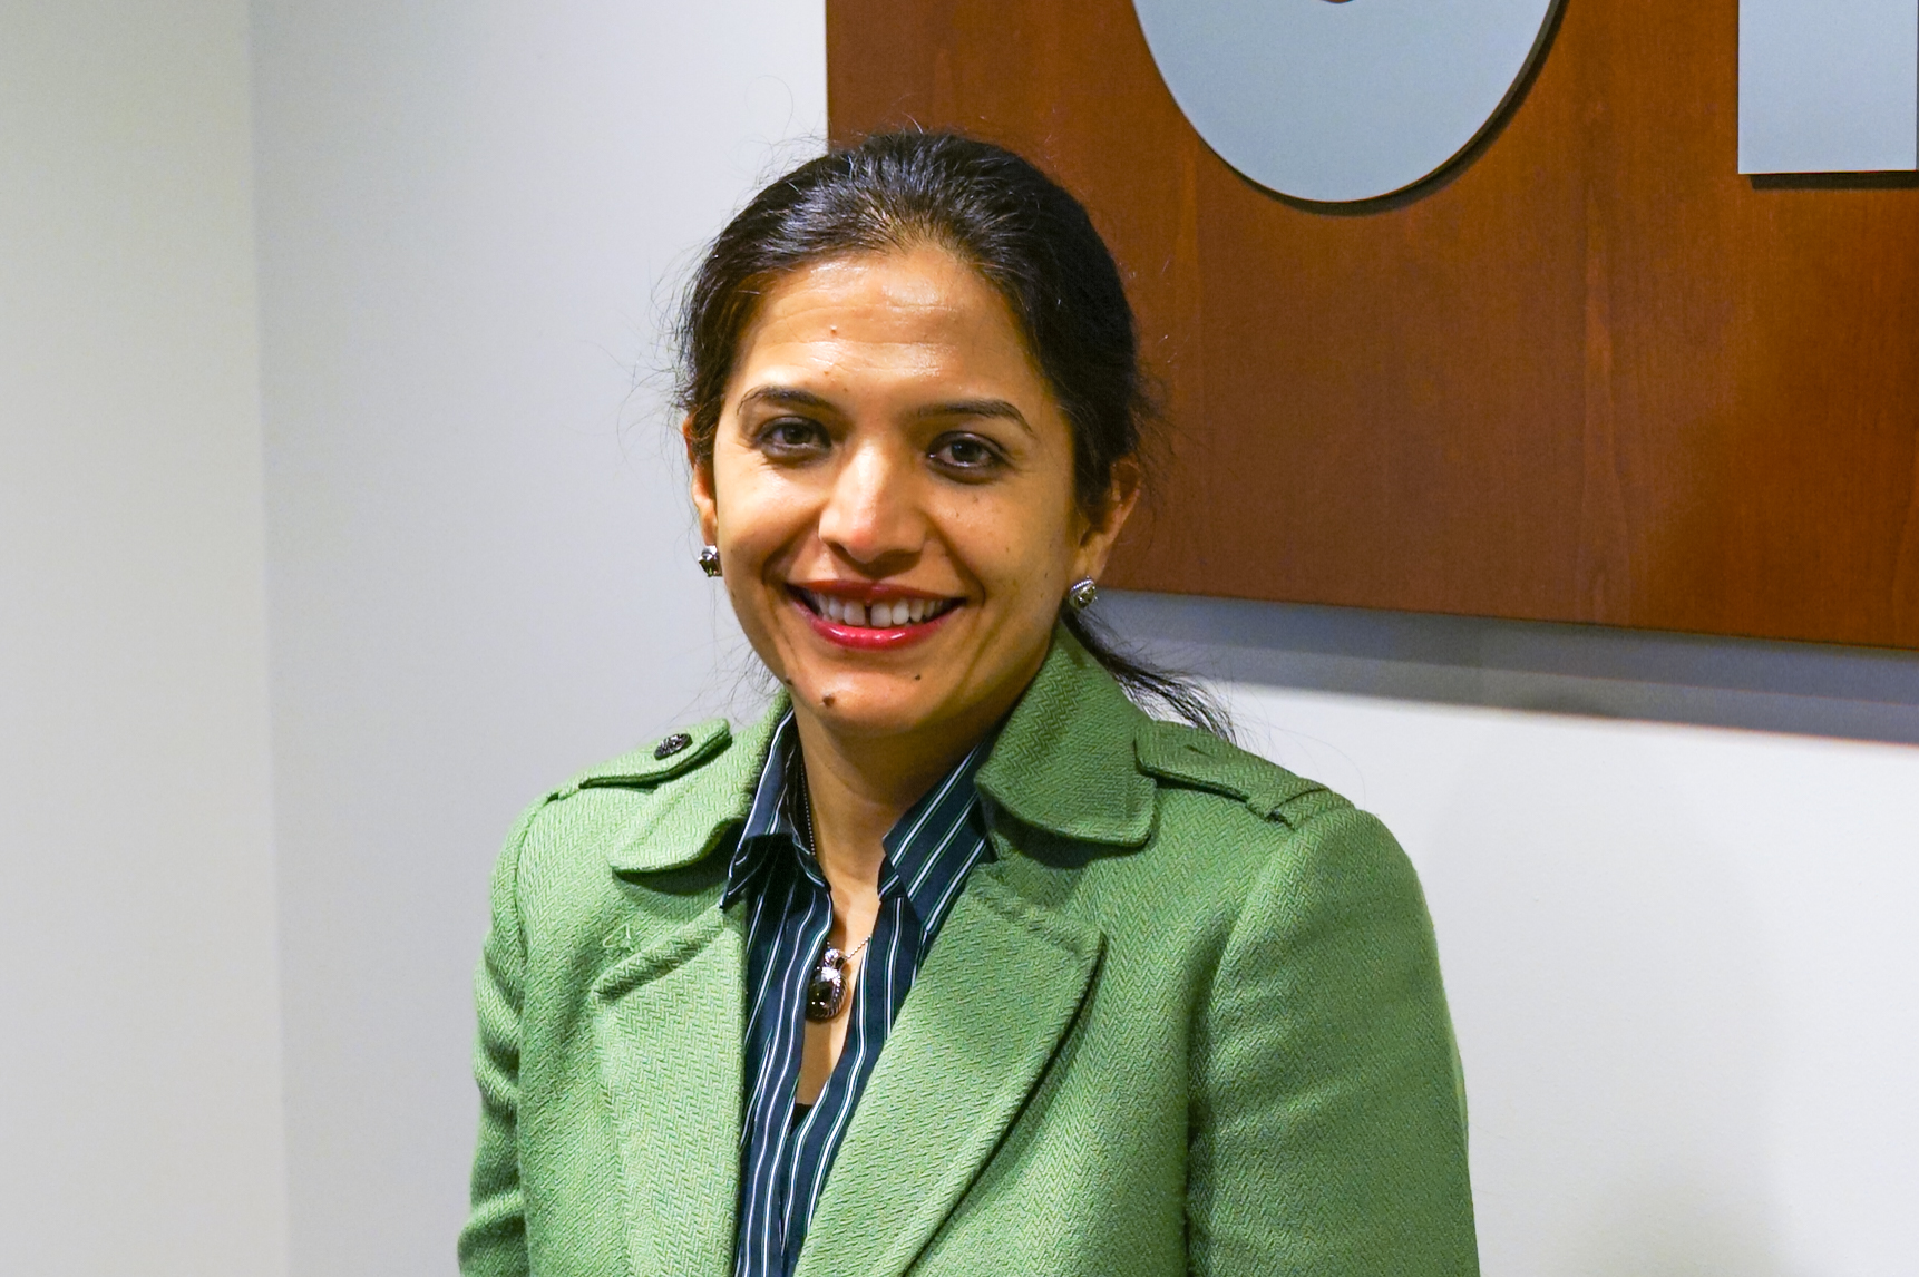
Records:
<instances>
[{"instance_id":1,"label":"reddish-brown wooden wall panel behind the woman's head","mask_svg":"<svg viewBox=\"0 0 1919 1277\"><path fill-rule=\"evenodd\" d=\"M1115 583L1919 646L1919 186L1739 176L1737 31L1566 0L1493 136L1361 209L1215 157L1126 0L829 0L829 113L1094 211L1173 439Z\"/></svg>"}]
</instances>

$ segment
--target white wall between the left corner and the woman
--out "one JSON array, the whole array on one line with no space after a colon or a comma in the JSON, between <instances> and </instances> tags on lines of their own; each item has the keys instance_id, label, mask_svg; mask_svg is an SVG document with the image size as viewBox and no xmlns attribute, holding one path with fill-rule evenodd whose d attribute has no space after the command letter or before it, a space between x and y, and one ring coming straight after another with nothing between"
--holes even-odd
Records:
<instances>
[{"instance_id":1,"label":"white wall between the left corner and the woman","mask_svg":"<svg viewBox=\"0 0 1919 1277\"><path fill-rule=\"evenodd\" d=\"M493 853L739 683L633 372L771 142L823 134L823 10L255 21L294 1271L449 1273Z\"/></svg>"}]
</instances>

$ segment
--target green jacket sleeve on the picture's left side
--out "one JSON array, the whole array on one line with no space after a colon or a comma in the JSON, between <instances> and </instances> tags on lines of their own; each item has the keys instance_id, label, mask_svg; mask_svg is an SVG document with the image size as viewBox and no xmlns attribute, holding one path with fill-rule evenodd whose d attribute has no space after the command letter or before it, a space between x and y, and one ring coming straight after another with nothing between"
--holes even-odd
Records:
<instances>
[{"instance_id":1,"label":"green jacket sleeve on the picture's left side","mask_svg":"<svg viewBox=\"0 0 1919 1277\"><path fill-rule=\"evenodd\" d=\"M474 1150L472 1212L461 1229L462 1277L526 1277L526 1208L520 1193L520 1012L526 936L520 928L520 849L533 811L520 817L493 869L493 922L474 974L480 1035L480 1141Z\"/></svg>"}]
</instances>

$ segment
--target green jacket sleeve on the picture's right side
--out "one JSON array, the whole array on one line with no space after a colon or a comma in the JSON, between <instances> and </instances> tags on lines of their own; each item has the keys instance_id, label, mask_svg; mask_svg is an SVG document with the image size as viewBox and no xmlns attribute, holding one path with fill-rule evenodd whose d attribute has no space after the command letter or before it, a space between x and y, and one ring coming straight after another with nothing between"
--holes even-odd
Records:
<instances>
[{"instance_id":1,"label":"green jacket sleeve on the picture's right side","mask_svg":"<svg viewBox=\"0 0 1919 1277\"><path fill-rule=\"evenodd\" d=\"M1196 1026L1192 1271L1472 1277L1464 1089L1426 899L1374 817L1324 792L1301 803Z\"/></svg>"}]
</instances>

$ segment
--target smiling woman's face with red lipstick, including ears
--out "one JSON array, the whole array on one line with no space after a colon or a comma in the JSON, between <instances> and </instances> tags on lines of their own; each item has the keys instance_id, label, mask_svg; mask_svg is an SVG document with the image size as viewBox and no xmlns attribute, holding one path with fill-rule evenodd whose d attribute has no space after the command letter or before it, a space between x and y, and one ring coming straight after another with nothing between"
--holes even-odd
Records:
<instances>
[{"instance_id":1,"label":"smiling woman's face with red lipstick, including ears","mask_svg":"<svg viewBox=\"0 0 1919 1277\"><path fill-rule=\"evenodd\" d=\"M817 263L746 330L700 529L760 660L842 736L986 731L1038 671L1098 520L1073 433L1006 301L936 247Z\"/></svg>"}]
</instances>

